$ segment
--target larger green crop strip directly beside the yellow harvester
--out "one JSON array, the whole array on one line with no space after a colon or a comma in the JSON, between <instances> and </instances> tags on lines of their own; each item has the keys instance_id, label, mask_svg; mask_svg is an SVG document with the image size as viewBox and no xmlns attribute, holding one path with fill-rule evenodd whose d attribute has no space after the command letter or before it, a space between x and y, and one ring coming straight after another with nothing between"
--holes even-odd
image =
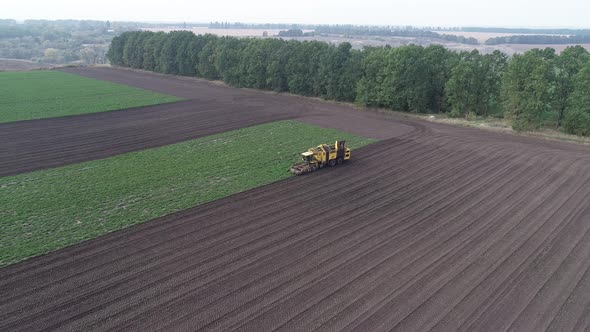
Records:
<instances>
[{"instance_id":1,"label":"larger green crop strip directly beside the yellow harvester","mask_svg":"<svg viewBox=\"0 0 590 332\"><path fill-rule=\"evenodd\" d=\"M0 266L291 176L310 146L374 140L280 121L0 178Z\"/></svg>"}]
</instances>

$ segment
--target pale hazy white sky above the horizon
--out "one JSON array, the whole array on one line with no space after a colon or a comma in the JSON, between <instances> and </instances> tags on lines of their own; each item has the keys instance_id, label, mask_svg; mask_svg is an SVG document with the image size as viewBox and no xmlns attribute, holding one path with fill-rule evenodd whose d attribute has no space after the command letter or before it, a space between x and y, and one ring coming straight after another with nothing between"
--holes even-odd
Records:
<instances>
[{"instance_id":1,"label":"pale hazy white sky above the horizon","mask_svg":"<svg viewBox=\"0 0 590 332\"><path fill-rule=\"evenodd\" d=\"M590 28L590 0L3 0L0 18Z\"/></svg>"}]
</instances>

